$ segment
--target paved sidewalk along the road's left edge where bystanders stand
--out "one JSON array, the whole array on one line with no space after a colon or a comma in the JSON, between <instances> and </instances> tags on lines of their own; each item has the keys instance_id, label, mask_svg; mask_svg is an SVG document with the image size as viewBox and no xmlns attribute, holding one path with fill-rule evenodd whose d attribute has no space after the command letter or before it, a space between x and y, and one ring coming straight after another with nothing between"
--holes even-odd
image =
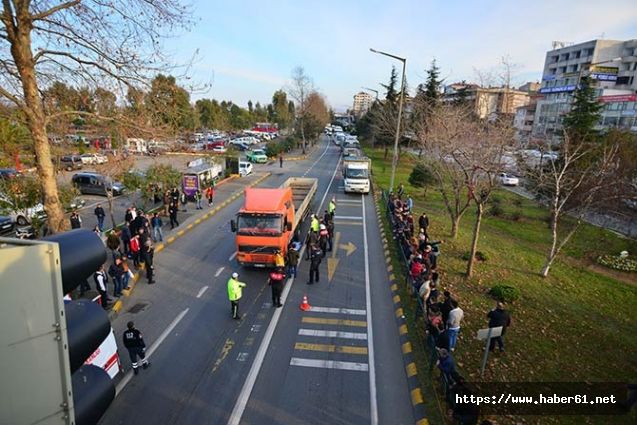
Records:
<instances>
[{"instance_id":1,"label":"paved sidewalk along the road's left edge where bystanders stand","mask_svg":"<svg viewBox=\"0 0 637 425\"><path fill-rule=\"evenodd\" d=\"M206 201L202 203L202 205L204 205L204 208L202 210L197 210L194 203L188 203L186 205L187 212L180 212L178 214L177 218L179 221L179 226L175 227L174 229L170 229L170 221L167 219L164 220L164 217L162 217L162 221L164 222L162 226L164 240L163 242L155 243L155 254L159 254L167 245L173 243L175 240L192 230L195 226L202 223L204 220L207 220L208 218L214 216L215 214L217 214L217 212L225 208L229 203L242 196L243 191L246 187L256 186L269 176L270 173L266 172L254 173L248 177L226 179L224 182L217 185L215 189L214 202L211 207L208 207L208 203ZM155 261L159 260L160 258L156 257ZM112 256L109 253L106 264L104 266L106 270L108 270L108 267L110 266L112 261ZM133 270L135 275L129 281L130 289L122 291L124 297L113 298L112 282L109 284L108 294L109 297L111 297L111 300L114 301L111 309L108 312L109 318L111 320L113 320L115 318L115 315L121 311L124 305L123 300L125 299L125 297L129 297L132 294L133 290L135 289L135 284L137 283L137 281L139 281L139 279L143 277L143 268L135 270L134 266L132 265L132 261L129 261L129 266L131 267L131 270Z\"/></svg>"}]
</instances>

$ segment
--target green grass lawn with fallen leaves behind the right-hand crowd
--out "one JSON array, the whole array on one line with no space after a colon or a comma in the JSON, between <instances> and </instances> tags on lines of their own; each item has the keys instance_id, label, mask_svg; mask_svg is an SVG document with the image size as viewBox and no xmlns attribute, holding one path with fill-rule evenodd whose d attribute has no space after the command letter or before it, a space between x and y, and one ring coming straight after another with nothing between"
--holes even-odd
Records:
<instances>
[{"instance_id":1,"label":"green grass lawn with fallen leaves behind the right-hand crowd","mask_svg":"<svg viewBox=\"0 0 637 425\"><path fill-rule=\"evenodd\" d=\"M373 160L376 185L387 188L391 158L384 160L382 150L366 152ZM539 272L550 243L545 221L548 211L501 189L495 196L501 199L504 214L487 215L482 221L478 250L487 259L477 264L473 278L465 279L466 261L462 256L469 251L475 210L465 213L457 239L451 240L450 220L439 193L432 187L423 196L423 189L411 187L408 176L412 167L413 158L404 155L396 172L396 186L402 182L406 193L412 195L416 220L421 211L427 213L430 236L445 240L439 260L441 282L465 312L454 353L463 376L479 380L483 343L475 339L476 331L486 327L486 313L495 304L488 290L506 284L518 288L521 298L507 307L512 316L507 351L490 356L485 380L637 382L637 273L610 271L594 261L600 254L622 250L634 256L637 241L585 224L555 261L549 276L542 278ZM513 220L513 215L519 219ZM407 299L403 296L403 302ZM422 337L421 321L411 327ZM431 382L429 376L424 380ZM496 420L501 423L502 418ZM524 420L634 423L635 413L630 418L561 416Z\"/></svg>"}]
</instances>

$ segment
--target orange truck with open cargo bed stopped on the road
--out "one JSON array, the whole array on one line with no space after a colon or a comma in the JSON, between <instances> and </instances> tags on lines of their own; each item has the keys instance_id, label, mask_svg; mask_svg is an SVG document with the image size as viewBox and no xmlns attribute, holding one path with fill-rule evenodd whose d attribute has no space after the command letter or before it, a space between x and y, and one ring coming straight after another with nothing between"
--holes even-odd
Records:
<instances>
[{"instance_id":1,"label":"orange truck with open cargo bed stopped on the road","mask_svg":"<svg viewBox=\"0 0 637 425\"><path fill-rule=\"evenodd\" d=\"M276 189L246 188L243 207L230 222L236 233L237 262L273 267L278 250L285 256L317 188L318 180L308 177L290 177Z\"/></svg>"}]
</instances>

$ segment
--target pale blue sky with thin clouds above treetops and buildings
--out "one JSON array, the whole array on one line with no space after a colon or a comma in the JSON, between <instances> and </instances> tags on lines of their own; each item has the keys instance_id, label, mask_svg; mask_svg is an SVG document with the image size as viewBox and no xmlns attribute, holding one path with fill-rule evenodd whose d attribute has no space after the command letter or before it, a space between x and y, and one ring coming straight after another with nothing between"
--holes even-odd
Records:
<instances>
[{"instance_id":1,"label":"pale blue sky with thin clouds above treetops and buildings","mask_svg":"<svg viewBox=\"0 0 637 425\"><path fill-rule=\"evenodd\" d=\"M513 83L539 81L555 40L637 38L634 0L191 0L195 24L165 42L178 61L195 58L189 83L209 85L193 100L246 106L271 102L302 66L336 111L361 87L381 91L392 65L407 59L413 92L435 58L445 83L479 82L513 65ZM184 83L186 83L184 81Z\"/></svg>"}]
</instances>

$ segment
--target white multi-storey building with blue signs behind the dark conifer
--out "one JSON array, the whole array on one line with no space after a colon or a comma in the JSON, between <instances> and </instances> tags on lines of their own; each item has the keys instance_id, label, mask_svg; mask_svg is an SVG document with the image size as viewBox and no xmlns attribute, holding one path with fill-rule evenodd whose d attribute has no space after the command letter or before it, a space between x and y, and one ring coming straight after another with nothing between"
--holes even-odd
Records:
<instances>
[{"instance_id":1,"label":"white multi-storey building with blue signs behind the dark conifer","mask_svg":"<svg viewBox=\"0 0 637 425\"><path fill-rule=\"evenodd\" d=\"M546 53L534 136L559 136L562 119L571 109L573 92L582 77L590 77L605 104L598 129L619 127L637 131L637 39L554 43Z\"/></svg>"}]
</instances>

